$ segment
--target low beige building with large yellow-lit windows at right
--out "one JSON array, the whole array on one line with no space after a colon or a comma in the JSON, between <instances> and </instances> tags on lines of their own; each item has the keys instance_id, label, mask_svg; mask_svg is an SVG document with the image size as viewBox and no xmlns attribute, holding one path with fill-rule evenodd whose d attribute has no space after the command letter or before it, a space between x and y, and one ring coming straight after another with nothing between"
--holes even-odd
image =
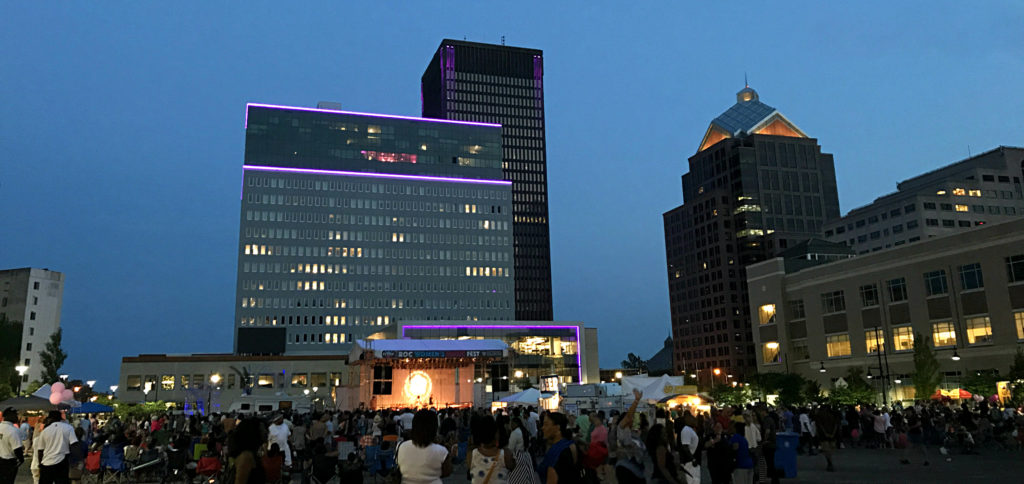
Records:
<instances>
[{"instance_id":1,"label":"low beige building with large yellow-lit windows at right","mask_svg":"<svg viewBox=\"0 0 1024 484\"><path fill-rule=\"evenodd\" d=\"M828 388L858 367L910 399L916 338L936 348L948 388L967 371L1007 371L1024 343L1024 220L854 258L839 244L807 252L822 257L746 269L759 371Z\"/></svg>"}]
</instances>

